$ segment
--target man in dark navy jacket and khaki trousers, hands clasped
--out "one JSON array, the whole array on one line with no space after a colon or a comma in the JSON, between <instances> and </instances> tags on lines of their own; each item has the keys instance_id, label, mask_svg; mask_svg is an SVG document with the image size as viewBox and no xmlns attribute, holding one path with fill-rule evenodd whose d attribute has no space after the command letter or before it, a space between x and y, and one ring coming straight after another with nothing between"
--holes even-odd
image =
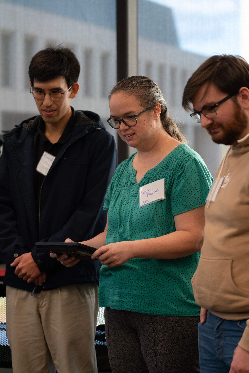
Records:
<instances>
[{"instance_id":1,"label":"man in dark navy jacket and khaki trousers, hands clasped","mask_svg":"<svg viewBox=\"0 0 249 373\"><path fill-rule=\"evenodd\" d=\"M74 110L79 62L68 48L32 58L40 115L4 135L0 158L0 257L6 263L7 338L15 373L97 372L94 337L100 263L69 269L35 242L103 231L103 202L117 165L99 115Z\"/></svg>"}]
</instances>

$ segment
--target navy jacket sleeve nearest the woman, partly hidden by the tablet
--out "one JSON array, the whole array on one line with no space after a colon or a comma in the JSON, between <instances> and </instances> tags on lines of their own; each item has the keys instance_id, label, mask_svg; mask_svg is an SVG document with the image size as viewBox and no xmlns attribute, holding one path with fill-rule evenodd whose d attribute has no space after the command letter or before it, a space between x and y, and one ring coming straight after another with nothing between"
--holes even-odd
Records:
<instances>
[{"instance_id":1,"label":"navy jacket sleeve nearest the woman, partly hidden by the tablet","mask_svg":"<svg viewBox=\"0 0 249 373\"><path fill-rule=\"evenodd\" d=\"M79 242L103 230L106 219L106 212L103 212L105 194L117 165L115 141L108 134L93 150L83 201L59 232L41 242L63 242L65 238ZM58 263L49 253L40 249L33 248L31 255L41 272L47 272Z\"/></svg>"}]
</instances>

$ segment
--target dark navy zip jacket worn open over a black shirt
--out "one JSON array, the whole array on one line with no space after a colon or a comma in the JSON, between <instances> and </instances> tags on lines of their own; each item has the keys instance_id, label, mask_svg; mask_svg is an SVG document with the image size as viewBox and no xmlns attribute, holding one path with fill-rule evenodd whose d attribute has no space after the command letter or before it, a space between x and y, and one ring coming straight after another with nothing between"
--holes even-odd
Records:
<instances>
[{"instance_id":1,"label":"dark navy zip jacket worn open over a black shirt","mask_svg":"<svg viewBox=\"0 0 249 373\"><path fill-rule=\"evenodd\" d=\"M40 116L25 120L4 135L0 157L0 258L6 263L6 285L28 291L34 288L34 283L20 279L10 267L14 254L27 252L31 252L40 271L47 272L44 289L99 280L100 262L81 261L66 268L48 252L34 247L38 241L83 241L105 228L106 211L102 207L117 166L115 141L97 114L75 113L72 135L41 187L39 213L34 190L34 131Z\"/></svg>"}]
</instances>

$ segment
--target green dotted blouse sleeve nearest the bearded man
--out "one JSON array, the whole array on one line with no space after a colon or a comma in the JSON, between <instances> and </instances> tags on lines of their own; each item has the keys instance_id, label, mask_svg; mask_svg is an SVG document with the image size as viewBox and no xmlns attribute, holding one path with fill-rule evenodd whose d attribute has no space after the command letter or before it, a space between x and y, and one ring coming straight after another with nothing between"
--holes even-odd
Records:
<instances>
[{"instance_id":1,"label":"green dotted blouse sleeve nearest the bearded man","mask_svg":"<svg viewBox=\"0 0 249 373\"><path fill-rule=\"evenodd\" d=\"M196 209L206 203L212 176L201 158L190 157L181 165L171 192L172 214Z\"/></svg>"}]
</instances>

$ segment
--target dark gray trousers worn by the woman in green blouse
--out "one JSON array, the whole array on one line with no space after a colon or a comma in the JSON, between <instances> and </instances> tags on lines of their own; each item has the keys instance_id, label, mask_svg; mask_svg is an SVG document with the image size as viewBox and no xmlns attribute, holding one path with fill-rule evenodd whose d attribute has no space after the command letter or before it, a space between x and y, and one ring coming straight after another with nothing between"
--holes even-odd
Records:
<instances>
[{"instance_id":1,"label":"dark gray trousers worn by the woman in green blouse","mask_svg":"<svg viewBox=\"0 0 249 373\"><path fill-rule=\"evenodd\" d=\"M105 308L113 373L197 373L199 316L155 316Z\"/></svg>"}]
</instances>

